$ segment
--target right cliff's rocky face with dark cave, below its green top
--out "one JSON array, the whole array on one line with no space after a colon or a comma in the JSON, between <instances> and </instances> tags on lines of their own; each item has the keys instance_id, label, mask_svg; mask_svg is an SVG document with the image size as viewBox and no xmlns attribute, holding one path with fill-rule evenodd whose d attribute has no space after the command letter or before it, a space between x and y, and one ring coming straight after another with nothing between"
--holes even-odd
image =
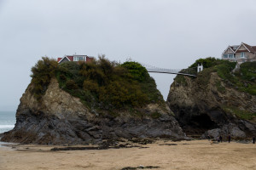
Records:
<instances>
[{"instance_id":1,"label":"right cliff's rocky face with dark cave, below its green top","mask_svg":"<svg viewBox=\"0 0 256 170\"><path fill-rule=\"evenodd\" d=\"M210 72L207 81L199 76L179 76L167 98L184 132L213 138L230 133L236 139L256 135L256 96L238 91L217 72Z\"/></svg>"}]
</instances>

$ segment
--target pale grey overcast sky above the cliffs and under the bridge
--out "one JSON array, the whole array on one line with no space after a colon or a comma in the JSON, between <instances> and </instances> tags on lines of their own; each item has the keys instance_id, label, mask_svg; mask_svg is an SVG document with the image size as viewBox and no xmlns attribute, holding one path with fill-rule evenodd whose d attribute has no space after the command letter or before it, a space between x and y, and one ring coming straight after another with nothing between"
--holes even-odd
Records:
<instances>
[{"instance_id":1,"label":"pale grey overcast sky above the cliffs and under the bridge","mask_svg":"<svg viewBox=\"0 0 256 170\"><path fill-rule=\"evenodd\" d=\"M0 111L15 111L42 56L105 54L183 69L256 45L254 0L0 0ZM175 75L150 73L166 99Z\"/></svg>"}]
</instances>

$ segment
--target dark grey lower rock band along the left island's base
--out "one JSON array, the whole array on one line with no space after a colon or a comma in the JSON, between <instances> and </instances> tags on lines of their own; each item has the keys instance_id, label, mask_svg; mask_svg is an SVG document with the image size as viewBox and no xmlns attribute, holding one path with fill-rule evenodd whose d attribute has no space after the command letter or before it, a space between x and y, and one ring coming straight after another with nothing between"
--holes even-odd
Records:
<instances>
[{"instance_id":1,"label":"dark grey lower rock band along the left island's base","mask_svg":"<svg viewBox=\"0 0 256 170\"><path fill-rule=\"evenodd\" d=\"M118 138L183 139L183 132L172 116L162 119L129 119L99 117L95 122L38 116L24 111L17 117L15 128L4 133L3 141L35 144L96 144L102 139Z\"/></svg>"}]
</instances>

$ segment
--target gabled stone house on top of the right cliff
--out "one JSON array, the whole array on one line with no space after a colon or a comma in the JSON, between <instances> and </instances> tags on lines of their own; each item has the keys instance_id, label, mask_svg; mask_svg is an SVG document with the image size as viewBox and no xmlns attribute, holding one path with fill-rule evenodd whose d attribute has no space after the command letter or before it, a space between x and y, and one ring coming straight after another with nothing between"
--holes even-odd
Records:
<instances>
[{"instance_id":1,"label":"gabled stone house on top of the right cliff","mask_svg":"<svg viewBox=\"0 0 256 170\"><path fill-rule=\"evenodd\" d=\"M234 61L238 64L256 61L256 46L250 46L244 42L241 42L240 45L229 46L224 50L222 59Z\"/></svg>"}]
</instances>

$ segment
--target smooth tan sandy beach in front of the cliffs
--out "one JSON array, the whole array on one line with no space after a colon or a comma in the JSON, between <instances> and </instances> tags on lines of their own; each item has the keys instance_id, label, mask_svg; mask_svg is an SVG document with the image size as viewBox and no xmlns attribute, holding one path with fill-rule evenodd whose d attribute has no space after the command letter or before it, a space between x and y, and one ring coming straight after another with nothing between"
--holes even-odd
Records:
<instances>
[{"instance_id":1,"label":"smooth tan sandy beach in front of the cliffs","mask_svg":"<svg viewBox=\"0 0 256 170\"><path fill-rule=\"evenodd\" d=\"M256 144L208 140L164 141L143 148L60 150L54 146L0 147L0 169L113 169L154 166L155 169L256 169Z\"/></svg>"}]
</instances>

